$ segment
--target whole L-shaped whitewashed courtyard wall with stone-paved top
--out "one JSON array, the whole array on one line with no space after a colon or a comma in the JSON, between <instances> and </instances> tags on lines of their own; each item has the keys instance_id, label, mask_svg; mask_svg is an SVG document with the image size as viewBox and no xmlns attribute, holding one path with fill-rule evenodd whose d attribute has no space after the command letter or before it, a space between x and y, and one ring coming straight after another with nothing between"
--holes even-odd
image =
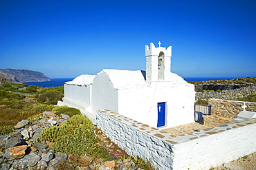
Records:
<instances>
[{"instance_id":1,"label":"whole L-shaped whitewashed courtyard wall with stone-paved top","mask_svg":"<svg viewBox=\"0 0 256 170\"><path fill-rule=\"evenodd\" d=\"M158 169L210 169L256 151L256 118L173 136L113 111L96 114L98 127L131 156Z\"/></svg>"}]
</instances>

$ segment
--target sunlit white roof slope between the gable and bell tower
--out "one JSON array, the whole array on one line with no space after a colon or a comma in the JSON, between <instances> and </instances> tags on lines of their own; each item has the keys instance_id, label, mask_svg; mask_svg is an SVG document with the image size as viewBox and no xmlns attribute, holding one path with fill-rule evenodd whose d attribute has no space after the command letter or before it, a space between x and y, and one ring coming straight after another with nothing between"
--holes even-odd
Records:
<instances>
[{"instance_id":1,"label":"sunlit white roof slope between the gable and bell tower","mask_svg":"<svg viewBox=\"0 0 256 170\"><path fill-rule=\"evenodd\" d=\"M113 70L104 69L102 70L109 76L113 87L116 89L128 89L132 87L145 87L147 83L143 76L142 71L130 71L130 70Z\"/></svg>"}]
</instances>

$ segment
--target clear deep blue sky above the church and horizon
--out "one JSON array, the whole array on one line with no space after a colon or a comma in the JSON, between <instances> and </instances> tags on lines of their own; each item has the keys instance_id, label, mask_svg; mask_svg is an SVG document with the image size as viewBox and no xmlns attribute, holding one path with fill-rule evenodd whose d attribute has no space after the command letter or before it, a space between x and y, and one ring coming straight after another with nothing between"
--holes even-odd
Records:
<instances>
[{"instance_id":1,"label":"clear deep blue sky above the church and horizon","mask_svg":"<svg viewBox=\"0 0 256 170\"><path fill-rule=\"evenodd\" d=\"M256 76L256 1L0 1L0 69L51 78L145 70L145 45L172 45L183 77Z\"/></svg>"}]
</instances>

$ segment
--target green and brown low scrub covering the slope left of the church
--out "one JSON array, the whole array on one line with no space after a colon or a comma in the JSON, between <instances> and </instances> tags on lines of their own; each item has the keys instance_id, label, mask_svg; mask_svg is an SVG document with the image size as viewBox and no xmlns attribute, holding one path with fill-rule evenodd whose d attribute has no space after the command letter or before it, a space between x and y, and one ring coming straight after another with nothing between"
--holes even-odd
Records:
<instances>
[{"instance_id":1,"label":"green and brown low scrub covering the slope left of the church","mask_svg":"<svg viewBox=\"0 0 256 170\"><path fill-rule=\"evenodd\" d=\"M13 127L21 120L35 123L44 111L55 111L56 115L67 114L69 118L64 125L47 127L42 131L37 142L51 142L55 152L70 156L62 168L74 169L77 158L82 155L95 156L104 160L120 160L120 156L110 153L107 147L95 136L95 126L83 116L79 109L60 106L55 107L64 93L64 87L37 87L21 84L0 83L0 136L12 133ZM29 100L28 100L29 99ZM73 160L71 159L73 158ZM150 162L142 156L127 157L136 162L138 167L153 169ZM68 162L69 161L69 162Z\"/></svg>"}]
</instances>

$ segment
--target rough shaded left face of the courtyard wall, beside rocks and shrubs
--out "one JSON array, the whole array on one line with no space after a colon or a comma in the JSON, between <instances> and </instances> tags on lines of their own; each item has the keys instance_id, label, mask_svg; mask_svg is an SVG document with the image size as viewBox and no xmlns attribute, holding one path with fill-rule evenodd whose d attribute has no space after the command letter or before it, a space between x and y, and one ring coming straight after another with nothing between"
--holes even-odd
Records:
<instances>
[{"instance_id":1,"label":"rough shaded left face of the courtyard wall, beside rocks and shrubs","mask_svg":"<svg viewBox=\"0 0 256 170\"><path fill-rule=\"evenodd\" d=\"M158 169L172 169L174 155L170 143L107 114L98 112L96 118L98 127L130 156L143 156Z\"/></svg>"}]
</instances>

